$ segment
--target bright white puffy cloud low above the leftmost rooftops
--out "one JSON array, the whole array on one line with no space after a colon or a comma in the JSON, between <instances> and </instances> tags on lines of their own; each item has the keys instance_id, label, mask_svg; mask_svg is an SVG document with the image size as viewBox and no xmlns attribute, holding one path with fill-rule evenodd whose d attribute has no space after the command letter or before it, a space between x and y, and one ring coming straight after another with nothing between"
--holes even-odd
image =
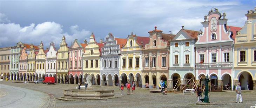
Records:
<instances>
[{"instance_id":1,"label":"bright white puffy cloud low above the leftmost rooftops","mask_svg":"<svg viewBox=\"0 0 256 108\"><path fill-rule=\"evenodd\" d=\"M62 27L55 22L43 22L38 25L32 23L25 27L15 23L0 23L0 46L15 46L19 41L39 45L43 41L45 47L48 47L51 41L58 45L63 35L70 45L74 39L84 40L90 34L85 29L80 31L78 25L70 27L72 34L63 32Z\"/></svg>"}]
</instances>

